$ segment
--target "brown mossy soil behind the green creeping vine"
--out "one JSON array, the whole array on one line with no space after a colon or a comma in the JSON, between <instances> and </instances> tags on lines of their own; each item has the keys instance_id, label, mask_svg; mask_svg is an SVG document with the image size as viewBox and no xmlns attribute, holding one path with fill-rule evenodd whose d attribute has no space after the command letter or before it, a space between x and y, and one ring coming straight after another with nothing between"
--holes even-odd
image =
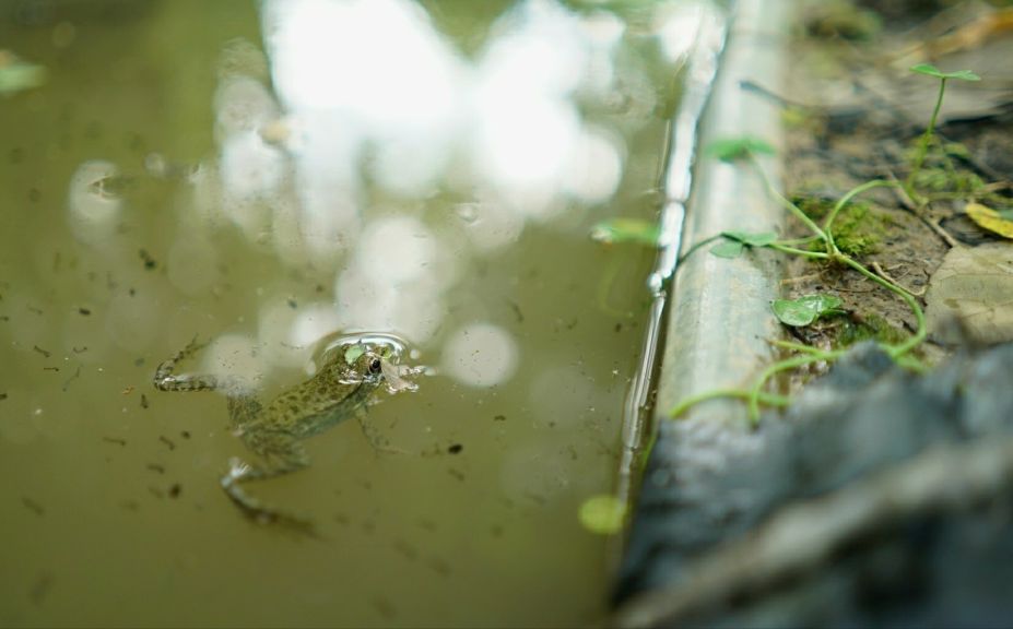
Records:
<instances>
[{"instance_id":1,"label":"brown mossy soil behind the green creeping vine","mask_svg":"<svg viewBox=\"0 0 1013 629\"><path fill-rule=\"evenodd\" d=\"M1009 9L976 4L976 11L956 11L954 3L910 2L909 11L900 11L903 3L888 2L891 13L884 14L875 5L845 4L813 3L805 32L792 44L791 58L800 62L789 69L787 92L770 94L785 107L787 195L812 209L814 218L855 186L908 176L939 88L935 80L911 73L911 64L978 71L993 67L997 55L1009 59L1013 49L1013 33L1002 22L1013 17ZM853 26L835 28L826 17L828 5L881 26L859 33ZM931 29L939 35L931 37ZM971 29L976 39L938 52L940 40ZM928 205L917 207L900 188L879 188L857 199L835 229L858 261L918 295L923 308L932 274L952 247L1003 240L978 227L964 207L968 202L1013 205L1013 74L982 73L980 84L949 81L940 122L940 144L919 177ZM793 223L790 236L810 235ZM838 295L847 314L791 329L806 343L828 348L870 336L892 341L916 329L915 314L898 296L849 269L791 257L782 294L814 293ZM930 334L919 349L930 363L952 349L935 341Z\"/></svg>"}]
</instances>

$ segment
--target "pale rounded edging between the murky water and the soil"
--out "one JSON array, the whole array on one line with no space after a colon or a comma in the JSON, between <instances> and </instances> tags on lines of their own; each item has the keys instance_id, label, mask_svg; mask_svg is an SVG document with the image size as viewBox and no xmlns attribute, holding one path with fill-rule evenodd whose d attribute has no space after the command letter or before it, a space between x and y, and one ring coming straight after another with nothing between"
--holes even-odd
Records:
<instances>
[{"instance_id":1,"label":"pale rounded edging between the murky water and the soil","mask_svg":"<svg viewBox=\"0 0 1013 629\"><path fill-rule=\"evenodd\" d=\"M738 3L721 68L702 121L700 146L743 135L784 145L780 111L769 99L745 91L749 80L775 92L781 84L788 0ZM779 205L749 167L697 154L696 186L688 202L682 250L722 230L776 230ZM763 158L773 181L780 179L779 157ZM655 417L690 395L712 389L741 388L771 358L767 340L778 336L769 304L777 295L779 268L770 251L751 251L734 260L710 256L706 247L686 259L672 286L667 343ZM715 400L693 407L683 422L720 420L745 427L740 401Z\"/></svg>"}]
</instances>

